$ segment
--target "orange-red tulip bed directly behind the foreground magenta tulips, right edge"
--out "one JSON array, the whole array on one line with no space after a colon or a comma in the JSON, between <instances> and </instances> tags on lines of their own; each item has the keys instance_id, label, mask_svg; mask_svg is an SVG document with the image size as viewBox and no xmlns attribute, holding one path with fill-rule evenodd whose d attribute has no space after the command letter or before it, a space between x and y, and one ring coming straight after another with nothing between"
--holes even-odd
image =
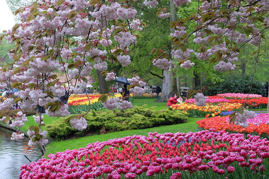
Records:
<instances>
[{"instance_id":1,"label":"orange-red tulip bed directly behind the foreground magenta tulips, right edge","mask_svg":"<svg viewBox=\"0 0 269 179\"><path fill-rule=\"evenodd\" d=\"M203 129L215 129L216 131L233 131L233 132L240 132L240 133L257 133L259 135L266 134L269 135L269 125L267 123L258 122L259 118L264 116L264 118L268 117L267 114L258 114L255 119L248 119L250 122L248 127L243 128L242 126L238 126L237 124L229 124L229 116L215 116L213 118L205 118L202 120L196 121L199 127ZM268 120L268 118L267 118ZM253 122L253 123L251 123ZM257 125L256 125L257 124Z\"/></svg>"}]
</instances>

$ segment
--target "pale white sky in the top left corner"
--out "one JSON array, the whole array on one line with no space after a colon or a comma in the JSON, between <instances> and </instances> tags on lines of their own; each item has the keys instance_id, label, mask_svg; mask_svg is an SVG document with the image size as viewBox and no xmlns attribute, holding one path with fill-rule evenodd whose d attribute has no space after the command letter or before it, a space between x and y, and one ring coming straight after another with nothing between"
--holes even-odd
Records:
<instances>
[{"instance_id":1,"label":"pale white sky in the top left corner","mask_svg":"<svg viewBox=\"0 0 269 179\"><path fill-rule=\"evenodd\" d=\"M15 25L13 14L10 11L5 0L0 0L0 33L3 30L8 30Z\"/></svg>"}]
</instances>

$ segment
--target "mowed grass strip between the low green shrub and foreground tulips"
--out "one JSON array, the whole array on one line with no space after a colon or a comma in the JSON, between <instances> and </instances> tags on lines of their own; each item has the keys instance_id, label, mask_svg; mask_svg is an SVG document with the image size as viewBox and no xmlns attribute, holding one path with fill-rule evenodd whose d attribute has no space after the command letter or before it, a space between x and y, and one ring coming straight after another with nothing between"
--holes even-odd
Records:
<instances>
[{"instance_id":1,"label":"mowed grass strip between the low green shrub and foreground tulips","mask_svg":"<svg viewBox=\"0 0 269 179\"><path fill-rule=\"evenodd\" d=\"M63 152L66 149L72 150L72 149L85 148L87 144L94 143L96 141L102 142L102 141L119 138L119 137L133 136L134 134L147 136L149 132L155 132L155 131L161 134L164 134L166 132L171 132L171 133L176 133L176 132L187 133L189 131L194 132L198 127L198 125L196 124L196 121L200 119L203 119L203 118L189 118L186 123L176 124L176 125L160 126L160 127L153 127L153 128L148 128L148 129L139 129L139 130L119 131L119 132L107 133L107 134L102 134L102 135L92 135L92 136L80 137L76 139L52 142L45 147L46 152L45 152L44 157L47 158L48 154L56 154L56 152Z\"/></svg>"}]
</instances>

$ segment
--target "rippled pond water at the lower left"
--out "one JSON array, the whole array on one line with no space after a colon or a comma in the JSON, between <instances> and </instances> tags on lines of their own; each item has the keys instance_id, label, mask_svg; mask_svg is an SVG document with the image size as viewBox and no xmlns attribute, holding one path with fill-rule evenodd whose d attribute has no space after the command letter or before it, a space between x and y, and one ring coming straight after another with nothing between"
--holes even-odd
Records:
<instances>
[{"instance_id":1,"label":"rippled pond water at the lower left","mask_svg":"<svg viewBox=\"0 0 269 179\"><path fill-rule=\"evenodd\" d=\"M37 161L42 155L38 148L28 146L27 137L17 142L10 140L12 133L0 127L0 179L19 178L20 167L30 163L24 155L31 161Z\"/></svg>"}]
</instances>

